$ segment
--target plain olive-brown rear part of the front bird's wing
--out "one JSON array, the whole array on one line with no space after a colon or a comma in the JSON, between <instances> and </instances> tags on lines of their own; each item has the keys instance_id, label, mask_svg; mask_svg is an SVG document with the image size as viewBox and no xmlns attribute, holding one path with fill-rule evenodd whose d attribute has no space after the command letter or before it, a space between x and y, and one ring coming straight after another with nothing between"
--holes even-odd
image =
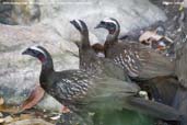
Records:
<instances>
[{"instance_id":1,"label":"plain olive-brown rear part of the front bird's wing","mask_svg":"<svg viewBox=\"0 0 187 125\"><path fill-rule=\"evenodd\" d=\"M103 77L95 80L93 88L95 96L129 96L139 92L140 88L136 83L126 82L110 77Z\"/></svg>"}]
</instances>

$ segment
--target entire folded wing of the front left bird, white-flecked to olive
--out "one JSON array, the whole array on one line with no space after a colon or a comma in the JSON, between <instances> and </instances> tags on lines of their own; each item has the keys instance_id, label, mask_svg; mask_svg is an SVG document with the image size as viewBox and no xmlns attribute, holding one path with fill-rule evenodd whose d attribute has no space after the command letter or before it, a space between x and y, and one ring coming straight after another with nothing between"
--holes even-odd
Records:
<instances>
[{"instance_id":1,"label":"entire folded wing of the front left bird, white-flecked to olive","mask_svg":"<svg viewBox=\"0 0 187 125\"><path fill-rule=\"evenodd\" d=\"M65 83L66 82L66 83ZM78 104L107 103L116 96L135 95L140 88L131 82L125 82L107 76L89 76L74 72L62 79L56 86L56 93L60 99L70 100ZM120 101L120 100L119 100Z\"/></svg>"}]
</instances>

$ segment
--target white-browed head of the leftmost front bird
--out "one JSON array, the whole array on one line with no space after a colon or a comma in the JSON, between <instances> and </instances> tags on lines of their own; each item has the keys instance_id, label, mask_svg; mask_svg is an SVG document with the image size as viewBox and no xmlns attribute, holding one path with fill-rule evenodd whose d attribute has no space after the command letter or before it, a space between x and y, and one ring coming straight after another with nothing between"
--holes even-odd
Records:
<instances>
[{"instance_id":1,"label":"white-browed head of the leftmost front bird","mask_svg":"<svg viewBox=\"0 0 187 125\"><path fill-rule=\"evenodd\" d=\"M43 64L45 61L47 61L47 59L48 59L48 53L42 46L31 46L31 47L26 48L22 53L22 55L30 55L30 56L33 56L35 58L38 58Z\"/></svg>"}]
</instances>

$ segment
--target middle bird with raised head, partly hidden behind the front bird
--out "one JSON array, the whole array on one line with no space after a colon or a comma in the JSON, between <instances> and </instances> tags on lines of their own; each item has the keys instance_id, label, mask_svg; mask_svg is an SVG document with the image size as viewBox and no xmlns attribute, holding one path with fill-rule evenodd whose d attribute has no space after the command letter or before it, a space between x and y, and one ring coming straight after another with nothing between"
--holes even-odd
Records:
<instances>
[{"instance_id":1,"label":"middle bird with raised head, partly hidden behind the front bird","mask_svg":"<svg viewBox=\"0 0 187 125\"><path fill-rule=\"evenodd\" d=\"M117 65L115 65L114 61L106 61L106 60L108 60L107 58L101 58L101 57L96 56L97 50L95 50L93 48L93 46L91 46L91 44L90 44L89 30L87 30L86 24L82 20L73 20L73 21L70 21L70 23L81 34L81 39L74 42L79 47L80 69L84 69L84 70L89 69L89 71L92 71L92 70L95 70L95 69L98 69L98 70L102 69L104 71L102 73L106 73L106 75L107 75L108 71L114 72L114 70L115 70L115 76L113 73L113 76L110 76L110 77L120 78L120 80L121 80L121 78L124 76L122 68L118 69ZM107 63L107 65L110 64L108 66L112 66L112 67L106 67L105 61ZM96 68L94 65L96 65L96 67L97 66L98 67ZM112 68L112 69L107 70L107 72L106 72L106 68ZM125 72L125 75L126 73L127 72ZM120 77L117 77L117 76L120 76ZM125 78L127 78L127 76ZM129 79L124 79L124 80L129 81ZM150 105L151 105L151 103L150 103ZM150 110L153 110L153 109L150 109ZM137 114L136 114L136 116L137 116ZM143 116L141 116L141 118Z\"/></svg>"}]
</instances>

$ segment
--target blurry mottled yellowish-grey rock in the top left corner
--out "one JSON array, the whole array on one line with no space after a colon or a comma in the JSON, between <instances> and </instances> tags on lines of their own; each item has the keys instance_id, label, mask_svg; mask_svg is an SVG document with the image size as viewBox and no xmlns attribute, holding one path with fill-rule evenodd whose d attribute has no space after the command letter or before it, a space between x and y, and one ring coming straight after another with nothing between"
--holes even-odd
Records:
<instances>
[{"instance_id":1,"label":"blurry mottled yellowish-grey rock in the top left corner","mask_svg":"<svg viewBox=\"0 0 187 125\"><path fill-rule=\"evenodd\" d=\"M0 22L3 24L32 24L38 22L40 10L37 0L1 0ZM30 4L30 3L31 4Z\"/></svg>"}]
</instances>

